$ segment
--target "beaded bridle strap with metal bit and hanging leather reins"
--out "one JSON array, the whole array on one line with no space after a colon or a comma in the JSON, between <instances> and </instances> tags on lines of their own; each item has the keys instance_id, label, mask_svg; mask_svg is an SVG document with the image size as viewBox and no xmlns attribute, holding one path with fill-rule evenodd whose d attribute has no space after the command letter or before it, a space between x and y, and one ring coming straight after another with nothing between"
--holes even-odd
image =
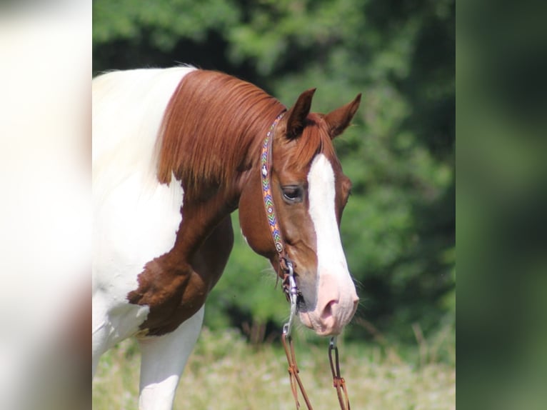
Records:
<instances>
[{"instance_id":1,"label":"beaded bridle strap with metal bit and hanging leather reins","mask_svg":"<svg viewBox=\"0 0 547 410\"><path fill-rule=\"evenodd\" d=\"M261 182L262 182L262 194L264 198L264 209L266 210L266 217L270 226L270 232L273 239L273 244L276 246L276 251L279 258L279 272L277 279L282 278L283 293L287 300L291 303L291 314L288 316L288 321L283 324L283 332L281 334L281 342L283 343L283 349L288 361L288 376L291 381L291 391L293 393L296 409L300 409L300 403L298 402L298 389L302 394L303 400L308 407L308 410L313 410L311 407L306 389L304 389L300 376L298 376L299 369L296 364L296 356L294 354L293 339L291 337L291 329L293 326L293 319L296 316L298 306L297 300L300 294L298 286L296 286L296 280L294 279L294 264L288 257L283 242L283 236L276 218L276 209L273 205L273 195L271 192L270 183L270 169L271 169L271 151L273 146L273 131L276 125L283 118L285 112L279 114L275 121L270 126L264 144L261 149ZM333 359L334 352L334 359ZM331 337L331 341L328 344L328 361L331 364L331 373L333 377L333 386L336 389L338 395L338 404L342 410L350 410L348 391L346 390L346 381L340 374L340 363L338 361L338 347L336 346L336 336Z\"/></svg>"}]
</instances>

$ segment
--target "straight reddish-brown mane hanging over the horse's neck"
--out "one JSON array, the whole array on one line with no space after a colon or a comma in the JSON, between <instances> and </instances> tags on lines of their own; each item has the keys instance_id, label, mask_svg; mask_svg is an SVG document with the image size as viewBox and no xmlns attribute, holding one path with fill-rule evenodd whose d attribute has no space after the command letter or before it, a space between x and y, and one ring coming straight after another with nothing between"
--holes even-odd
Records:
<instances>
[{"instance_id":1,"label":"straight reddish-brown mane hanging over the horse's neck","mask_svg":"<svg viewBox=\"0 0 547 410\"><path fill-rule=\"evenodd\" d=\"M169 184L174 175L186 193L228 186L238 172L259 161L259 144L284 109L265 91L234 76L191 71L171 96L160 127L159 182Z\"/></svg>"}]
</instances>

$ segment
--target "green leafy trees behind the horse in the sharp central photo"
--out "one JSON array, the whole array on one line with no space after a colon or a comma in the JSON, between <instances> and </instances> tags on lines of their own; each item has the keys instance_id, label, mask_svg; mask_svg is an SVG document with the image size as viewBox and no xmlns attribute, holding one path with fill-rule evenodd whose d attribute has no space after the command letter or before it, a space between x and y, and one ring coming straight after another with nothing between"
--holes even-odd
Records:
<instances>
[{"instance_id":1,"label":"green leafy trees behind the horse in the sharp central photo","mask_svg":"<svg viewBox=\"0 0 547 410\"><path fill-rule=\"evenodd\" d=\"M94 0L93 16L94 74L195 64L287 106L317 87L322 112L363 92L336 141L353 181L341 231L361 297L346 337L416 343L416 329L428 338L453 326L455 1ZM236 236L206 323L267 336L288 315L274 284Z\"/></svg>"}]
</instances>

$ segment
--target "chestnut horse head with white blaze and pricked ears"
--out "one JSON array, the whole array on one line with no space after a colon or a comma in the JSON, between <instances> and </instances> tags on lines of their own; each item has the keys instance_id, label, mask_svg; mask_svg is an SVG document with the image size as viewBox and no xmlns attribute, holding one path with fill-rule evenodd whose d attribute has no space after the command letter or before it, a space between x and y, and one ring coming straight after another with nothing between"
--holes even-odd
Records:
<instances>
[{"instance_id":1,"label":"chestnut horse head with white blaze and pricked ears","mask_svg":"<svg viewBox=\"0 0 547 410\"><path fill-rule=\"evenodd\" d=\"M301 322L321 336L339 334L355 314L355 285L339 226L351 190L333 139L351 123L361 94L329 114L310 113L315 89L304 91L272 131L270 191L284 251L293 262ZM264 211L255 169L239 201L241 231L276 271L280 257Z\"/></svg>"}]
</instances>

